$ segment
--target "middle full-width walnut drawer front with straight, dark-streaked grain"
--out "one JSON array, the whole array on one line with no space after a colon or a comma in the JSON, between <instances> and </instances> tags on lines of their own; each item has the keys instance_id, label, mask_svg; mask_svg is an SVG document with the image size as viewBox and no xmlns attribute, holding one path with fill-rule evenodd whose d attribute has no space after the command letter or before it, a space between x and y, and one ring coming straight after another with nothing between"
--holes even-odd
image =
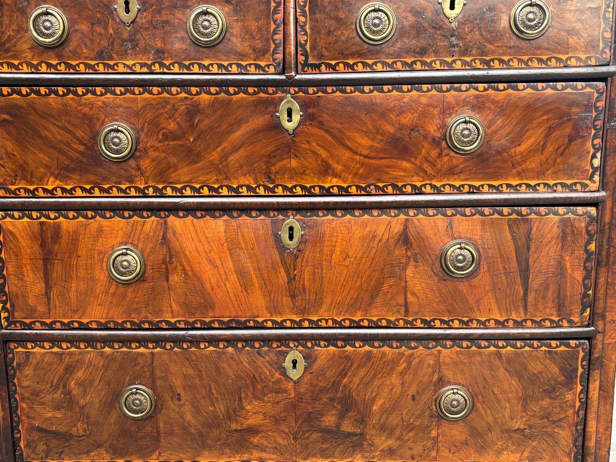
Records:
<instances>
[{"instance_id":1,"label":"middle full-width walnut drawer front with straight, dark-streaked grain","mask_svg":"<svg viewBox=\"0 0 616 462\"><path fill-rule=\"evenodd\" d=\"M304 233L293 251L278 235L289 216ZM0 217L9 328L577 326L590 315L594 208ZM477 249L466 277L441 263L457 240ZM142 254L136 282L108 273L123 246Z\"/></svg>"}]
</instances>

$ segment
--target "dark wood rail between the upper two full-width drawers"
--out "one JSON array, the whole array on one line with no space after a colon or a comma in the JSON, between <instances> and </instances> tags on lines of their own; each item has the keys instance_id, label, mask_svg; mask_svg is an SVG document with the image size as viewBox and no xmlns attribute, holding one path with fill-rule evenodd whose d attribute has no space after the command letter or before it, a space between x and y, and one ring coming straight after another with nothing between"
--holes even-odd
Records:
<instances>
[{"instance_id":1,"label":"dark wood rail between the upper two full-width drawers","mask_svg":"<svg viewBox=\"0 0 616 462\"><path fill-rule=\"evenodd\" d=\"M595 204L604 191L585 193L460 193L318 197L80 197L0 198L0 211L373 209Z\"/></svg>"}]
</instances>

